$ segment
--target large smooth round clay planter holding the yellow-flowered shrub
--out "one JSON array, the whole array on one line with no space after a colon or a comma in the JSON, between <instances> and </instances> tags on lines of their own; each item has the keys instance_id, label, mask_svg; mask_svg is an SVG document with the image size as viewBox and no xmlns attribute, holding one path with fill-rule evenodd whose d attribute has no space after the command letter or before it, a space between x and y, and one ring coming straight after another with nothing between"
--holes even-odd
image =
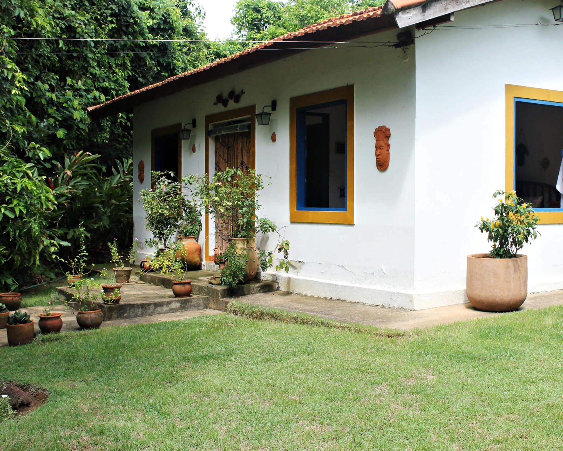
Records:
<instances>
[{"instance_id":1,"label":"large smooth round clay planter holding the yellow-flowered shrub","mask_svg":"<svg viewBox=\"0 0 563 451\"><path fill-rule=\"evenodd\" d=\"M528 295L528 257L491 258L467 256L467 299L486 312L510 312L520 308Z\"/></svg>"}]
</instances>

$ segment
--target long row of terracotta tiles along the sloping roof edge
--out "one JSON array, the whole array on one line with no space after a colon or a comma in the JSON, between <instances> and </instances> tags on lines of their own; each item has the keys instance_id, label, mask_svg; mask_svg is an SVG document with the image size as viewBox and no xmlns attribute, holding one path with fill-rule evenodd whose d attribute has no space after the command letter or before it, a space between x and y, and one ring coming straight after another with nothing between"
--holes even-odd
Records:
<instances>
[{"instance_id":1,"label":"long row of terracotta tiles along the sloping roof edge","mask_svg":"<svg viewBox=\"0 0 563 451\"><path fill-rule=\"evenodd\" d=\"M397 0L395 0L395 1L397 1ZM93 107L88 107L87 108L88 113L95 112L96 110L98 110L102 107L106 107L110 104L113 104L113 103L115 103L119 100L131 98L131 97L133 97L137 94L140 94L141 92L156 89L159 86L166 85L167 83L169 83L171 81L175 81L179 78L189 77L190 75L193 75L193 74L196 74L196 73L199 73L199 72L203 72L204 70L207 70L207 69L212 68L212 67L216 67L220 64L224 64L227 61L232 61L234 59L241 58L242 56L251 54L252 52L256 52L257 50L262 50L263 48L267 48L267 47L273 45L276 42L291 41L294 38L305 36L306 34L316 33L316 32L319 32L320 30L332 28L332 27L335 27L335 26L342 26L342 25L351 24L352 22L355 22L355 21L361 21L361 20L366 20L366 19L372 19L374 17L379 17L382 14L382 9L383 8L380 7L380 6L370 6L368 8L365 8L365 10L355 11L355 12L352 12L351 14L343 14L339 17L332 17L331 19L323 20L323 21L321 21L317 24L307 25L307 26L301 28L300 30L283 34L282 36L278 36L277 38L271 39L270 41L262 42L262 43L260 43L256 46L253 46L251 48L247 48L246 50L243 50L243 51L240 51L240 52L235 53L233 55L227 56L226 58L222 58L220 60L213 61L213 63L206 64L206 65L199 67L197 69L189 70L188 72L184 72L184 73L175 75L173 77L169 77L169 78L167 78L167 79L165 79L161 82L154 83L153 85L142 87L141 89L138 89L136 91L132 91L132 92L129 92L128 94L124 94L122 96L116 97L115 99L108 100L105 103L95 105Z\"/></svg>"}]
</instances>

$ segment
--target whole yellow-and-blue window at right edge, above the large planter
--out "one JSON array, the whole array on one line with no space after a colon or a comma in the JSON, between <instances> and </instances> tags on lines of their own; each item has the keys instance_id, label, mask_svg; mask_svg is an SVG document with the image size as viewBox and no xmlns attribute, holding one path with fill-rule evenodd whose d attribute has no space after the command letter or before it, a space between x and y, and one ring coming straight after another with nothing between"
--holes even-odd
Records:
<instances>
[{"instance_id":1,"label":"whole yellow-and-blue window at right edge, above the large planter","mask_svg":"<svg viewBox=\"0 0 563 451\"><path fill-rule=\"evenodd\" d=\"M531 204L542 223L563 223L558 182L563 92L507 85L506 188Z\"/></svg>"}]
</instances>

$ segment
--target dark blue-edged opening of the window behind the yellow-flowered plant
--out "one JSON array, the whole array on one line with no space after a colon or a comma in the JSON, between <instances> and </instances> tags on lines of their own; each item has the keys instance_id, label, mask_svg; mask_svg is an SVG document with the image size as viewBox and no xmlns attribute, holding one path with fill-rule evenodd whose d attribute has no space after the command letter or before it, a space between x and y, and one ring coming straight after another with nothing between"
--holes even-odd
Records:
<instances>
[{"instance_id":1,"label":"dark blue-edged opening of the window behind the yellow-flowered plant","mask_svg":"<svg viewBox=\"0 0 563 451\"><path fill-rule=\"evenodd\" d=\"M559 209L563 104L515 99L514 132L517 195L535 209Z\"/></svg>"}]
</instances>

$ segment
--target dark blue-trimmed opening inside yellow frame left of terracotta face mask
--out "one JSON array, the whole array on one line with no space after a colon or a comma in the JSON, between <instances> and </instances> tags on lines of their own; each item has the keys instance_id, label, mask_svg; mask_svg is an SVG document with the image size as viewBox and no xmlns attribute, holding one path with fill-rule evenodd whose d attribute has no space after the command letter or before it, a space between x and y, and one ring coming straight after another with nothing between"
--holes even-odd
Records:
<instances>
[{"instance_id":1,"label":"dark blue-trimmed opening inside yellow frame left of terracotta face mask","mask_svg":"<svg viewBox=\"0 0 563 451\"><path fill-rule=\"evenodd\" d=\"M297 109L297 209L346 211L346 100Z\"/></svg>"}]
</instances>

